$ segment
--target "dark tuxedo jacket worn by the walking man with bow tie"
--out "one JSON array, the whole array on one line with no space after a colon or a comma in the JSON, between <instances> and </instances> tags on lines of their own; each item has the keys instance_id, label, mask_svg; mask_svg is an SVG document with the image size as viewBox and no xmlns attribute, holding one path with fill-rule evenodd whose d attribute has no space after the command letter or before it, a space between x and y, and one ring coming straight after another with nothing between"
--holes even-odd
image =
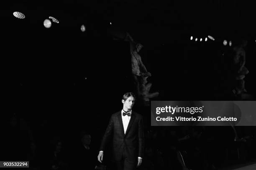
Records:
<instances>
[{"instance_id":1,"label":"dark tuxedo jacket worn by the walking man with bow tie","mask_svg":"<svg viewBox=\"0 0 256 170\"><path fill-rule=\"evenodd\" d=\"M127 153L127 159L130 161L137 161L138 157L143 158L144 129L142 116L133 111L124 134L121 111L114 113L102 138L100 150L104 151L110 141L113 145L113 160L121 160L124 149Z\"/></svg>"}]
</instances>

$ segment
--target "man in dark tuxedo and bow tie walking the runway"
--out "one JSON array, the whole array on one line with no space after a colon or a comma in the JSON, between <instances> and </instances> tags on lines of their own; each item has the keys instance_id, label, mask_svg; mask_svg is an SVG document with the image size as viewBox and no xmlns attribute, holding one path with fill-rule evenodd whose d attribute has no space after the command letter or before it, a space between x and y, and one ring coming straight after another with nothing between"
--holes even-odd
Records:
<instances>
[{"instance_id":1,"label":"man in dark tuxedo and bow tie walking the runway","mask_svg":"<svg viewBox=\"0 0 256 170\"><path fill-rule=\"evenodd\" d=\"M144 153L143 119L132 110L135 100L133 93L125 93L123 109L111 116L100 145L100 163L106 145L111 140L113 160L118 170L134 170L141 165Z\"/></svg>"}]
</instances>

